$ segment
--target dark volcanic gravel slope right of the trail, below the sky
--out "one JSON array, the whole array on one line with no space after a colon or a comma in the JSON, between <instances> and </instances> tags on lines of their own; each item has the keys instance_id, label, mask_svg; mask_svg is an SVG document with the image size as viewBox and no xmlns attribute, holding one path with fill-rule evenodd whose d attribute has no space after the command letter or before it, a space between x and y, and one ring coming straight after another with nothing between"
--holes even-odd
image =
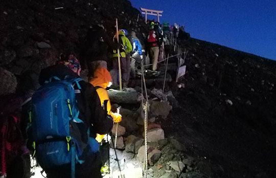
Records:
<instances>
[{"instance_id":1,"label":"dark volcanic gravel slope right of the trail, below the sky","mask_svg":"<svg viewBox=\"0 0 276 178\"><path fill-rule=\"evenodd\" d=\"M275 177L276 61L197 39L181 44L186 87L165 132L211 177Z\"/></svg>"}]
</instances>

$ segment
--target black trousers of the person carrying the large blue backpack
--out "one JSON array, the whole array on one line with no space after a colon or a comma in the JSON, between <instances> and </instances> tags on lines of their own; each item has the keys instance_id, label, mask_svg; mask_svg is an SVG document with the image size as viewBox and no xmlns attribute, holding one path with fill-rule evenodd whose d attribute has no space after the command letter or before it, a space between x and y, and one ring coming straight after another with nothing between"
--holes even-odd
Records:
<instances>
[{"instance_id":1,"label":"black trousers of the person carrying the large blue backpack","mask_svg":"<svg viewBox=\"0 0 276 178\"><path fill-rule=\"evenodd\" d=\"M102 161L100 153L89 156L83 164L76 164L76 178L101 178ZM71 164L45 170L47 178L71 178Z\"/></svg>"}]
</instances>

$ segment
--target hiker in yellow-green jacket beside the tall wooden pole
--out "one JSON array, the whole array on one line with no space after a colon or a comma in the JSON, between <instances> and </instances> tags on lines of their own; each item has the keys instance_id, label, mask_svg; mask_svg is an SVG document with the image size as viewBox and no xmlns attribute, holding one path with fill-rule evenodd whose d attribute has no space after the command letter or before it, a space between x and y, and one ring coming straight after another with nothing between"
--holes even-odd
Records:
<instances>
[{"instance_id":1,"label":"hiker in yellow-green jacket beside the tall wooden pole","mask_svg":"<svg viewBox=\"0 0 276 178\"><path fill-rule=\"evenodd\" d=\"M124 29L119 30L119 44L120 44L120 63L121 63L121 71L122 71L122 86L127 87L129 81L129 74L130 74L130 58L127 55L132 51L132 46L129 39L126 37L127 31ZM116 39L116 36L114 37ZM112 62L113 62L113 73L112 81L114 84L119 84L119 63L118 63L118 51L113 50L112 55Z\"/></svg>"}]
</instances>

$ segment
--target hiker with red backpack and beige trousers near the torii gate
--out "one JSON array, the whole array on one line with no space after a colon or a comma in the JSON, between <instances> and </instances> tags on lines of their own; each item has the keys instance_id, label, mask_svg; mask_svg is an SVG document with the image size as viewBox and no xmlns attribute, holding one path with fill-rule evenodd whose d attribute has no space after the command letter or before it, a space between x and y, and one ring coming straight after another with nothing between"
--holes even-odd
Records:
<instances>
[{"instance_id":1,"label":"hiker with red backpack and beige trousers near the torii gate","mask_svg":"<svg viewBox=\"0 0 276 178\"><path fill-rule=\"evenodd\" d=\"M152 71L156 71L158 55L159 55L159 27L157 25L153 26L153 29L149 31L148 35L148 47L149 47L149 56L152 62Z\"/></svg>"}]
</instances>

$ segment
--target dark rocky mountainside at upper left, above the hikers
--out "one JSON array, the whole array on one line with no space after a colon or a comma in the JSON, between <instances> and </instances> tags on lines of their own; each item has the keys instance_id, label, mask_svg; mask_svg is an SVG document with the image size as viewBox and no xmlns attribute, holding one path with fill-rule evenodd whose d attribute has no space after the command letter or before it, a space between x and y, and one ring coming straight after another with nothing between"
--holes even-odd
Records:
<instances>
[{"instance_id":1,"label":"dark rocky mountainside at upper left, above the hikers","mask_svg":"<svg viewBox=\"0 0 276 178\"><path fill-rule=\"evenodd\" d=\"M57 61L61 52L73 51L82 60L90 26L102 25L110 37L116 31L116 18L119 28L145 29L140 12L125 0L4 0L0 14L0 66L16 76L17 91L30 87L24 84L25 78L37 79L40 70ZM38 42L47 44L38 46Z\"/></svg>"}]
</instances>

